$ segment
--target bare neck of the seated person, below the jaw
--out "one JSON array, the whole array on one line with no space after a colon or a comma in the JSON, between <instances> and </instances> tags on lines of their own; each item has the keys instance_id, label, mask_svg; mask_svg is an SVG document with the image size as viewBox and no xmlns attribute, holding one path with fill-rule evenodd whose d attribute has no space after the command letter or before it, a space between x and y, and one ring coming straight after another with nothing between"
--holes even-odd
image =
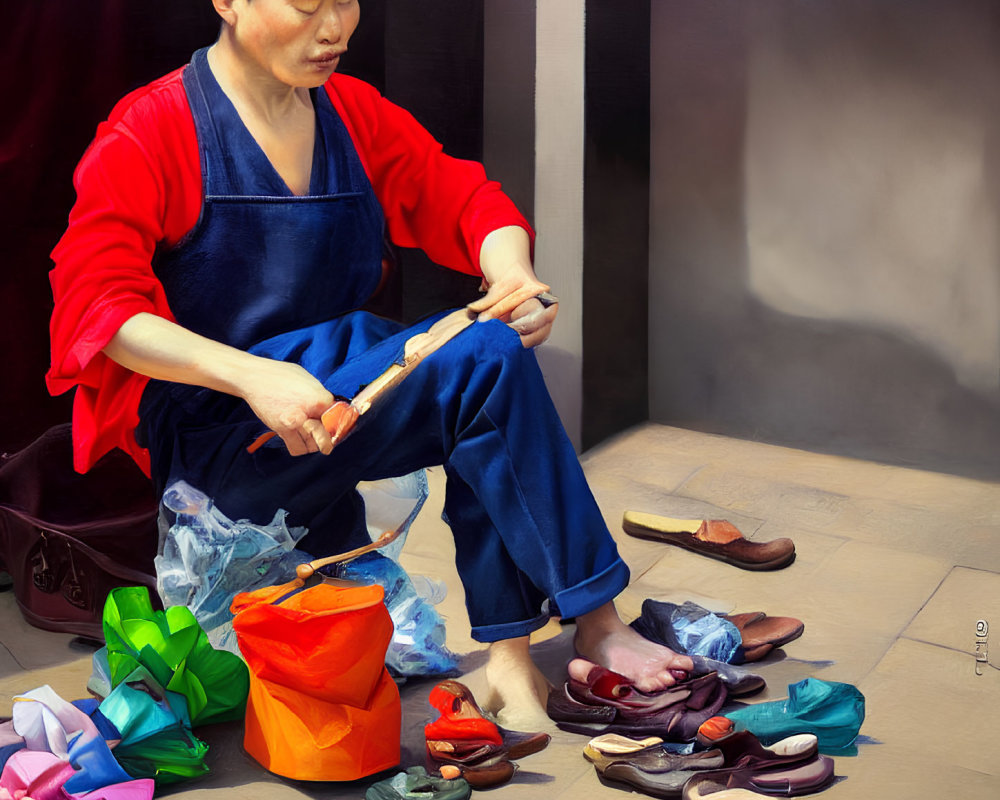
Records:
<instances>
[{"instance_id":1,"label":"bare neck of the seated person, below the jaw","mask_svg":"<svg viewBox=\"0 0 1000 800\"><path fill-rule=\"evenodd\" d=\"M223 26L219 40L208 50L208 65L222 90L237 108L248 108L261 118L287 119L301 106L312 108L309 90L282 83L249 58Z\"/></svg>"}]
</instances>

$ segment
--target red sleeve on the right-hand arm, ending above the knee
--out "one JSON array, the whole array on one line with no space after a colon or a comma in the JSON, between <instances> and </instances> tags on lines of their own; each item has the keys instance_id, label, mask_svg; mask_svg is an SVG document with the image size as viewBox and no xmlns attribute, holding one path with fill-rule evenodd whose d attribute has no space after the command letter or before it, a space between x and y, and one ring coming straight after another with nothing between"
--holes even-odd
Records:
<instances>
[{"instance_id":1,"label":"red sleeve on the right-hand arm, ending above the knee","mask_svg":"<svg viewBox=\"0 0 1000 800\"><path fill-rule=\"evenodd\" d=\"M486 178L482 164L451 158L413 116L373 87L334 73L326 84L385 212L389 237L435 263L481 274L483 239L507 225L534 231Z\"/></svg>"}]
</instances>

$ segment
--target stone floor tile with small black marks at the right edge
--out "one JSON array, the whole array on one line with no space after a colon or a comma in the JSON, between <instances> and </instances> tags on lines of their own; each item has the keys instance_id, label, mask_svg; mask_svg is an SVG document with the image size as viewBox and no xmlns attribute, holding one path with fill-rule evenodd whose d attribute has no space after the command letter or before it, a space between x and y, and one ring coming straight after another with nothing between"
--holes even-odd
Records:
<instances>
[{"instance_id":1,"label":"stone floor tile with small black marks at the right edge","mask_svg":"<svg viewBox=\"0 0 1000 800\"><path fill-rule=\"evenodd\" d=\"M955 567L903 636L973 654L979 643L980 657L1000 667L1000 574Z\"/></svg>"}]
</instances>

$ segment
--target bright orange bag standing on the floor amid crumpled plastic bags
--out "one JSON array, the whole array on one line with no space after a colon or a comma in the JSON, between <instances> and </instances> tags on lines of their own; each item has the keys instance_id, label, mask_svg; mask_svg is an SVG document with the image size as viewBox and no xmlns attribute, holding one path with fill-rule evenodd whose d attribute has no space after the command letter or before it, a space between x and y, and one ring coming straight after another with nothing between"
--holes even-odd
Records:
<instances>
[{"instance_id":1,"label":"bright orange bag standing on the floor amid crumpled plastic bags","mask_svg":"<svg viewBox=\"0 0 1000 800\"><path fill-rule=\"evenodd\" d=\"M350 781L399 763L399 690L385 669L381 586L319 584L238 594L233 629L250 668L243 746L296 780Z\"/></svg>"}]
</instances>

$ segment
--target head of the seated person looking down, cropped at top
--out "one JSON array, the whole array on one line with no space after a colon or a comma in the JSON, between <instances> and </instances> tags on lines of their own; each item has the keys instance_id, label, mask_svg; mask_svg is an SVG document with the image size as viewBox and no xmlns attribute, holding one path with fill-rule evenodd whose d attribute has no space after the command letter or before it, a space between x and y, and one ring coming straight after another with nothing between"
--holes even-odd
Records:
<instances>
[{"instance_id":1,"label":"head of the seated person looking down, cropped at top","mask_svg":"<svg viewBox=\"0 0 1000 800\"><path fill-rule=\"evenodd\" d=\"M358 26L358 0L212 0L241 58L289 86L321 85Z\"/></svg>"}]
</instances>

